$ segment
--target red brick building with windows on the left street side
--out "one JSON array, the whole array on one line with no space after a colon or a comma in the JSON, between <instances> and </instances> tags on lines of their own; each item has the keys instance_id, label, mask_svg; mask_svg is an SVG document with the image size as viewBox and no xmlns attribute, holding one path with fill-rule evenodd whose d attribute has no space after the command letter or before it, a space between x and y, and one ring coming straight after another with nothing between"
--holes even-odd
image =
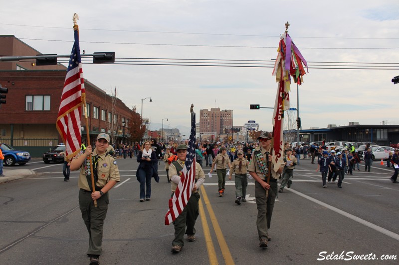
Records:
<instances>
[{"instance_id":1,"label":"red brick building with windows on the left street side","mask_svg":"<svg viewBox=\"0 0 399 265\"><path fill-rule=\"evenodd\" d=\"M2 56L37 54L40 53L14 36L0 36ZM6 104L0 105L1 142L23 147L31 153L34 149L29 147L48 149L61 142L55 121L66 76L63 65L37 67L32 65L33 61L0 62L0 84L8 88ZM123 138L127 142L132 109L87 80L85 90L90 139L95 140L98 133L106 132L113 142L120 143ZM84 139L84 116L81 120Z\"/></svg>"}]
</instances>

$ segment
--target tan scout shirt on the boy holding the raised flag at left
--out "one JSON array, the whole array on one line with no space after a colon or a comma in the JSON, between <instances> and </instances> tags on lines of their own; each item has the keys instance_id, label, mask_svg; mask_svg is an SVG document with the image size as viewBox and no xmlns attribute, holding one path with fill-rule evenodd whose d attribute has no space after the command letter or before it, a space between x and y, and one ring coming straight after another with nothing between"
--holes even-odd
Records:
<instances>
[{"instance_id":1,"label":"tan scout shirt on the boy holding the raised flag at left","mask_svg":"<svg viewBox=\"0 0 399 265\"><path fill-rule=\"evenodd\" d=\"M76 157L79 157L81 154L79 154ZM97 156L96 149L94 149L92 157ZM87 157L88 159L89 157ZM85 160L86 161L86 160ZM116 163L116 160L114 157L111 155L108 155L107 152L105 152L102 155L98 156L98 162L97 162L97 176L98 180L96 182L96 186L98 187L103 187L109 180L115 180L116 182L119 182L120 175L119 175L119 168ZM90 166L88 166L90 167ZM93 170L94 170L94 165L93 165ZM78 181L78 186L79 188L82 188L84 190L90 191L91 190L91 183L87 182L86 174L84 171L84 165L81 166L80 169L80 175L79 175L79 181Z\"/></svg>"}]
</instances>

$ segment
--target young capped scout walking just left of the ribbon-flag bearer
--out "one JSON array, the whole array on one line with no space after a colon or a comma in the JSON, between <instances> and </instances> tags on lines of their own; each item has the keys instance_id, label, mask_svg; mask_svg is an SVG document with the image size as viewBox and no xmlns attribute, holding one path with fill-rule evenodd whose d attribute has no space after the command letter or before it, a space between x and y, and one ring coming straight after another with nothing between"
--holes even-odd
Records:
<instances>
[{"instance_id":1,"label":"young capped scout walking just left of the ribbon-flag bearer","mask_svg":"<svg viewBox=\"0 0 399 265\"><path fill-rule=\"evenodd\" d=\"M228 179L231 180L231 176L234 172L235 182L235 203L241 204L241 201L246 201L246 187L248 186L248 178L246 172L248 169L249 162L244 158L244 151L237 151L237 159L231 163L230 176Z\"/></svg>"}]
</instances>

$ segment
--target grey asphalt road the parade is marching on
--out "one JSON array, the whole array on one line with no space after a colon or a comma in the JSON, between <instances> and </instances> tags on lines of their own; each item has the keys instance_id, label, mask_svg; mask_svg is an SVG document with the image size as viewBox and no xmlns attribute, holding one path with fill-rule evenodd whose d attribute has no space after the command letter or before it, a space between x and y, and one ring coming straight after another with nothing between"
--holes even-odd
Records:
<instances>
[{"instance_id":1,"label":"grey asphalt road the parade is marching on","mask_svg":"<svg viewBox=\"0 0 399 265\"><path fill-rule=\"evenodd\" d=\"M173 226L164 225L171 189L163 165L145 202L139 202L136 160L118 159L118 165L121 182L110 191L102 265L398 264L399 184L389 180L393 170L379 162L371 173L362 165L339 189L334 183L323 188L317 165L301 160L291 188L278 193L267 249L258 247L253 180L248 202L236 205L233 181L220 198L215 173L207 177L210 168L204 167L197 240L186 241L179 254L171 253ZM39 160L7 169L22 168L37 174L0 184L0 264L88 264L78 173L64 182L62 164ZM350 260L337 260L341 253Z\"/></svg>"}]
</instances>

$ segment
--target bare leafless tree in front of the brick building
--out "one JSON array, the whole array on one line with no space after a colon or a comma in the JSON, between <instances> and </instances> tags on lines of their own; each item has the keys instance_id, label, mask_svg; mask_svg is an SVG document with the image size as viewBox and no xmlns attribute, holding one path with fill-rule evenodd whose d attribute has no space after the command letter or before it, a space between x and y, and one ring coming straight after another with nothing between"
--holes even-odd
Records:
<instances>
[{"instance_id":1,"label":"bare leafless tree in front of the brick building","mask_svg":"<svg viewBox=\"0 0 399 265\"><path fill-rule=\"evenodd\" d=\"M118 98L116 97L117 89L116 87L112 91L111 89L111 96L105 94L105 106L107 110L107 121L105 123L107 133L111 138L111 143L116 143L118 135L122 133L121 126L122 126L122 116L117 113L116 111L116 104Z\"/></svg>"}]
</instances>

